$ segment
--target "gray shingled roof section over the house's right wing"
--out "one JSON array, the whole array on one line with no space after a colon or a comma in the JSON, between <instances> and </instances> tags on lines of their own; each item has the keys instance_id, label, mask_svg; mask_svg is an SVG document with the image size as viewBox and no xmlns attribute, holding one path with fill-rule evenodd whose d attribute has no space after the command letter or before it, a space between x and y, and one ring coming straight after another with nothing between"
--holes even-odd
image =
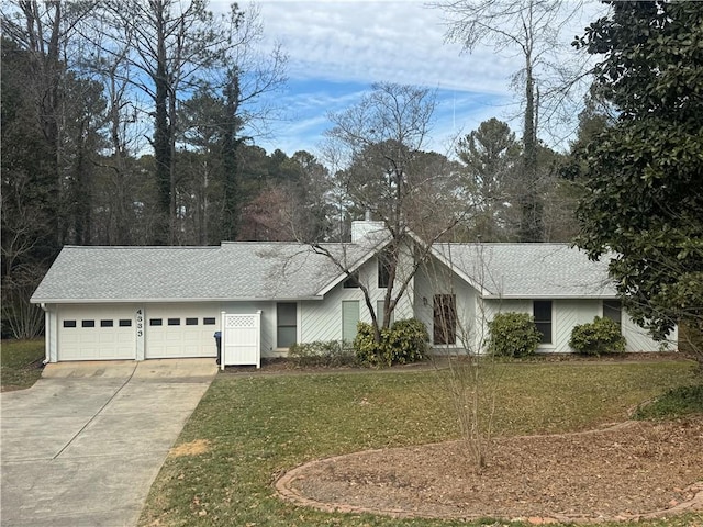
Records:
<instances>
[{"instance_id":1,"label":"gray shingled roof section over the house's right wing","mask_svg":"<svg viewBox=\"0 0 703 527\"><path fill-rule=\"evenodd\" d=\"M615 298L609 258L567 244L438 244L435 254L487 298Z\"/></svg>"}]
</instances>

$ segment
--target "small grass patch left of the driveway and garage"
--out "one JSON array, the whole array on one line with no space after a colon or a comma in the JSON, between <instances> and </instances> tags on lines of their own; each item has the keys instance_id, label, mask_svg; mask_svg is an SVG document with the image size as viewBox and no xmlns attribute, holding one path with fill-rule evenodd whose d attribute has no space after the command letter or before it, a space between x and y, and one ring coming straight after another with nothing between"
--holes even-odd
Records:
<instances>
[{"instance_id":1,"label":"small grass patch left of the driveway and garage","mask_svg":"<svg viewBox=\"0 0 703 527\"><path fill-rule=\"evenodd\" d=\"M0 352L2 391L23 390L42 377L44 339L3 340Z\"/></svg>"}]
</instances>

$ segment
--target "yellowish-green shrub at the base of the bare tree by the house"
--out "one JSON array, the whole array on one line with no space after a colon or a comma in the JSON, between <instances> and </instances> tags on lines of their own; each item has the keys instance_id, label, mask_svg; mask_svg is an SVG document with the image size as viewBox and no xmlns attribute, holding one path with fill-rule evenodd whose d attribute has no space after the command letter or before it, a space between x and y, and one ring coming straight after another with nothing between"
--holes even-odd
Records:
<instances>
[{"instance_id":1,"label":"yellowish-green shrub at the base of the bare tree by the house","mask_svg":"<svg viewBox=\"0 0 703 527\"><path fill-rule=\"evenodd\" d=\"M373 326L359 322L354 349L357 360L362 365L405 365L424 360L428 341L427 328L416 318L398 321L390 328L381 329L379 343L373 338Z\"/></svg>"}]
</instances>

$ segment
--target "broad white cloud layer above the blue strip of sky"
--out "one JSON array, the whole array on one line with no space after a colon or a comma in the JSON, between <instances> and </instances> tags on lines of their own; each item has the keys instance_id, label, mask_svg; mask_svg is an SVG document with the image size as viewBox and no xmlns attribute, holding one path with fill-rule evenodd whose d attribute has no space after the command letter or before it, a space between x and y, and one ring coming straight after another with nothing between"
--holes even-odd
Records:
<instances>
[{"instance_id":1,"label":"broad white cloud layer above the blue strip of sky","mask_svg":"<svg viewBox=\"0 0 703 527\"><path fill-rule=\"evenodd\" d=\"M265 34L290 56L292 79L443 87L503 94L513 60L461 55L442 13L416 1L264 1Z\"/></svg>"}]
</instances>

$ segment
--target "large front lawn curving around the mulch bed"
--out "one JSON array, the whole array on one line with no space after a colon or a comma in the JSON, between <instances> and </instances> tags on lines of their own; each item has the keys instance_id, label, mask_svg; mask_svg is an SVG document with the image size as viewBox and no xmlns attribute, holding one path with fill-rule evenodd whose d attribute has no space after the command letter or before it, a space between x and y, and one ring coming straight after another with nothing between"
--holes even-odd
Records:
<instances>
[{"instance_id":1,"label":"large front lawn curving around the mulch bed","mask_svg":"<svg viewBox=\"0 0 703 527\"><path fill-rule=\"evenodd\" d=\"M638 403L694 382L692 365L684 361L507 363L501 365L500 375L500 435L572 431L624 421ZM521 525L322 513L276 497L276 475L315 458L456 438L440 374L433 371L221 374L178 440L205 439L210 449L166 460L140 524ZM703 527L703 515L632 525Z\"/></svg>"}]
</instances>

